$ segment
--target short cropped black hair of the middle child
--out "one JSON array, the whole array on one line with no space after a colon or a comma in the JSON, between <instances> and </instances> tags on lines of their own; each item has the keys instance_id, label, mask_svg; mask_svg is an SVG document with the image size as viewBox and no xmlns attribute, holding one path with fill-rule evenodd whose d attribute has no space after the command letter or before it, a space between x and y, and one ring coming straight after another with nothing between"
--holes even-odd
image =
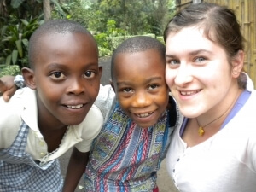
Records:
<instances>
[{"instance_id":1,"label":"short cropped black hair of the middle child","mask_svg":"<svg viewBox=\"0 0 256 192\"><path fill-rule=\"evenodd\" d=\"M128 38L119 44L118 48L113 51L111 59L111 78L113 79L113 67L116 64L115 59L117 55L124 53L137 53L148 49L156 50L162 56L163 61L166 61L166 46L156 38L136 36Z\"/></svg>"}]
</instances>

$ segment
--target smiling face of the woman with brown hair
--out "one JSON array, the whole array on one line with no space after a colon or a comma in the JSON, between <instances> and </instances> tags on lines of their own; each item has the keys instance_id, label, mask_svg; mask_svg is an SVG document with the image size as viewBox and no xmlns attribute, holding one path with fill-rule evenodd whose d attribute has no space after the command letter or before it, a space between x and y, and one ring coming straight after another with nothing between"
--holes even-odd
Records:
<instances>
[{"instance_id":1,"label":"smiling face of the woman with brown hair","mask_svg":"<svg viewBox=\"0 0 256 192\"><path fill-rule=\"evenodd\" d=\"M226 52L197 27L167 36L166 83L189 118L219 113L225 102L233 100L236 86Z\"/></svg>"}]
</instances>

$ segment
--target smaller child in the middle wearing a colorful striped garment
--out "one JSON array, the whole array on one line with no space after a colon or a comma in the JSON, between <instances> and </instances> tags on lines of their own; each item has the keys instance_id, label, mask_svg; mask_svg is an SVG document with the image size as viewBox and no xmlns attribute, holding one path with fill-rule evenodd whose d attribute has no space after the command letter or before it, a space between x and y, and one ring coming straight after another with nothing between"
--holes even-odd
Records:
<instances>
[{"instance_id":1,"label":"smaller child in the middle wearing a colorful striped garment","mask_svg":"<svg viewBox=\"0 0 256 192\"><path fill-rule=\"evenodd\" d=\"M129 38L113 52L117 102L109 85L101 87L96 106L113 102L113 110L91 148L85 191L158 191L157 171L177 120L165 53L164 44L149 37Z\"/></svg>"}]
</instances>

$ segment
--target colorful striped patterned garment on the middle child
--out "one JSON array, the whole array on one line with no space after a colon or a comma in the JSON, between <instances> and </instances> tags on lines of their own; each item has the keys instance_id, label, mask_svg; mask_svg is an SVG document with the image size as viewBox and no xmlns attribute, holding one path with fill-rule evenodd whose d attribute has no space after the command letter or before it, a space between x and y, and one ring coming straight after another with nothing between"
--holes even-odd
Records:
<instances>
[{"instance_id":1,"label":"colorful striped patterned garment on the middle child","mask_svg":"<svg viewBox=\"0 0 256 192\"><path fill-rule=\"evenodd\" d=\"M117 104L91 148L85 191L156 189L156 172L166 157L173 131L167 125L168 117L166 110L154 126L141 128Z\"/></svg>"}]
</instances>

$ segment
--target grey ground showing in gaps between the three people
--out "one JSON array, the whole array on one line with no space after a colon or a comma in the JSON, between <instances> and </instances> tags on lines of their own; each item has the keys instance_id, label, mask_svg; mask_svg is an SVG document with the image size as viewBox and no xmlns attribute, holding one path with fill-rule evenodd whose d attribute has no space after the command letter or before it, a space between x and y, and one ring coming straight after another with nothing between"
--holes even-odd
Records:
<instances>
[{"instance_id":1,"label":"grey ground showing in gaps between the three people","mask_svg":"<svg viewBox=\"0 0 256 192\"><path fill-rule=\"evenodd\" d=\"M99 61L99 65L103 67L101 84L108 84L110 79L110 57L101 58ZM60 158L61 162L61 173L63 177L65 177L67 170L67 163L69 160L69 156L72 150L69 150L66 154L62 155ZM177 189L174 187L172 183L172 178L169 177L166 171L166 160L164 160L160 166L160 171L158 172L157 183L160 189L160 192L177 192ZM83 186L83 178L81 178L79 182L79 186ZM83 189L79 189L79 187L75 190L75 192L82 192Z\"/></svg>"}]
</instances>

